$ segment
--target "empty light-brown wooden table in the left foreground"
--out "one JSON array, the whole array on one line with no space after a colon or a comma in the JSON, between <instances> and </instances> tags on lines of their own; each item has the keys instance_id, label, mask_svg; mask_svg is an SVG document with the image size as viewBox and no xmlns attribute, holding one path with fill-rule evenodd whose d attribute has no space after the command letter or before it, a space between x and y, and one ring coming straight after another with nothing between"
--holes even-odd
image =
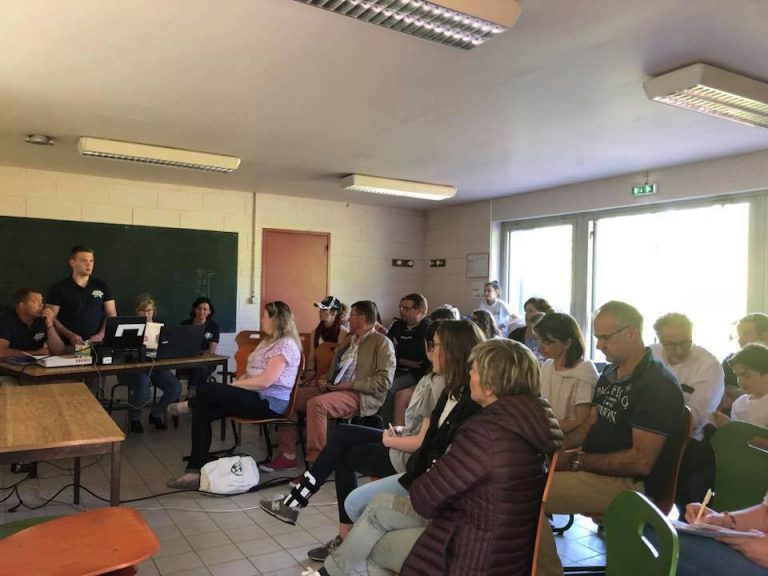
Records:
<instances>
[{"instance_id":1,"label":"empty light-brown wooden table in the left foreground","mask_svg":"<svg viewBox=\"0 0 768 576\"><path fill-rule=\"evenodd\" d=\"M0 464L74 458L75 504L80 457L110 453L110 503L120 504L120 443L125 434L82 382L0 388Z\"/></svg>"}]
</instances>

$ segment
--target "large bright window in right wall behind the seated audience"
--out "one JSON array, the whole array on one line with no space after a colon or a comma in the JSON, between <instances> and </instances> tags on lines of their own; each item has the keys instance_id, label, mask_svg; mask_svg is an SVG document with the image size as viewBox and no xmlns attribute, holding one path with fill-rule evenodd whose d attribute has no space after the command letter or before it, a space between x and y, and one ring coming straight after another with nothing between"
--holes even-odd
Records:
<instances>
[{"instance_id":1,"label":"large bright window in right wall behind the seated audience","mask_svg":"<svg viewBox=\"0 0 768 576\"><path fill-rule=\"evenodd\" d=\"M761 291L768 277L762 227L754 224L763 206L755 197L575 215L557 224L507 223L502 253L510 303L522 308L528 297L544 297L573 314L589 336L592 310L623 300L643 314L648 344L656 318L681 312L694 323L694 341L722 358L735 347L734 322L754 311L750 288ZM603 360L594 343L588 348Z\"/></svg>"}]
</instances>

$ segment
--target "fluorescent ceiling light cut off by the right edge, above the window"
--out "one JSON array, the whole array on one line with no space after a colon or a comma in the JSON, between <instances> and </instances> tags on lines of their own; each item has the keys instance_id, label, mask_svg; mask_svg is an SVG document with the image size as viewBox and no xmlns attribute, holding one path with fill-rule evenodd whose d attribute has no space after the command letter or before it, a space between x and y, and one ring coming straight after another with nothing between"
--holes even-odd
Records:
<instances>
[{"instance_id":1,"label":"fluorescent ceiling light cut off by the right edge, above the window","mask_svg":"<svg viewBox=\"0 0 768 576\"><path fill-rule=\"evenodd\" d=\"M749 126L768 128L768 84L692 64L643 84L648 98Z\"/></svg>"}]
</instances>

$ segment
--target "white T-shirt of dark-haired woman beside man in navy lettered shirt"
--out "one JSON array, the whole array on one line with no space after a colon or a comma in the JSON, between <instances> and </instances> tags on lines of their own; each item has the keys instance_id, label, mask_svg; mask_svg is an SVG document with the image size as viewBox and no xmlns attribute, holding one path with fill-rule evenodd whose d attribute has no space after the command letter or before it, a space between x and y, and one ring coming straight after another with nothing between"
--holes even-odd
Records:
<instances>
[{"instance_id":1,"label":"white T-shirt of dark-haired woman beside man in navy lettered shirt","mask_svg":"<svg viewBox=\"0 0 768 576\"><path fill-rule=\"evenodd\" d=\"M558 420L573 420L576 406L592 403L598 378L590 360L573 368L555 370L555 361L549 359L541 366L541 395L549 400Z\"/></svg>"}]
</instances>

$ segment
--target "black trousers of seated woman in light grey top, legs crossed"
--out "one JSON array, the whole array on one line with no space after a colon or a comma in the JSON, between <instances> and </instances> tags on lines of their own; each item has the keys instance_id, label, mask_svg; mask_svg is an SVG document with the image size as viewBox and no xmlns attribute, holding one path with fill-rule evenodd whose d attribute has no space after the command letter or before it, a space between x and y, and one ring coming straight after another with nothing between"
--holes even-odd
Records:
<instances>
[{"instance_id":1,"label":"black trousers of seated woman in light grey top, legs crossed","mask_svg":"<svg viewBox=\"0 0 768 576\"><path fill-rule=\"evenodd\" d=\"M357 488L358 473L380 478L397 474L389 459L389 448L381 443L382 433L378 428L339 424L309 470L317 480L316 489L331 472L336 472L336 499L342 524L352 524L344 510L344 500Z\"/></svg>"}]
</instances>

